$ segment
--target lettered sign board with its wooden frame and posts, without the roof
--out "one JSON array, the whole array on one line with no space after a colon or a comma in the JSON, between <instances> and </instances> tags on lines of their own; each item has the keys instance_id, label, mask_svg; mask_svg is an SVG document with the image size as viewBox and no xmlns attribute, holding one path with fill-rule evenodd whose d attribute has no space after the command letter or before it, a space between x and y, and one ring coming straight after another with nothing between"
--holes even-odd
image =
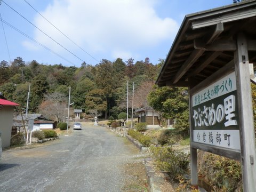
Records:
<instances>
[{"instance_id":1,"label":"lettered sign board with its wooden frame and posts, without the roof","mask_svg":"<svg viewBox=\"0 0 256 192\"><path fill-rule=\"evenodd\" d=\"M256 189L255 134L246 38L234 60L189 90L191 184L197 185L197 149L242 163L243 189Z\"/></svg>"}]
</instances>

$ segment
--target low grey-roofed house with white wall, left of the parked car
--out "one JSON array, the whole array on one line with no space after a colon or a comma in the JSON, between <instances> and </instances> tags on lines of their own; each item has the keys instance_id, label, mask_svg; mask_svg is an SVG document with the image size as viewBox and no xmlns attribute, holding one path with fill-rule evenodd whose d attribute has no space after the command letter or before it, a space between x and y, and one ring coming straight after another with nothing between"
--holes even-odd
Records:
<instances>
[{"instance_id":1,"label":"low grey-roofed house with white wall, left of the parked car","mask_svg":"<svg viewBox=\"0 0 256 192\"><path fill-rule=\"evenodd\" d=\"M25 121L26 115L23 114L22 117ZM13 125L17 125L17 123L22 124L22 117L21 115L18 115L17 117L15 117ZM42 114L28 114L27 120L29 119L34 119L33 131L55 129L57 126L56 121L52 121L51 119L44 117Z\"/></svg>"}]
</instances>

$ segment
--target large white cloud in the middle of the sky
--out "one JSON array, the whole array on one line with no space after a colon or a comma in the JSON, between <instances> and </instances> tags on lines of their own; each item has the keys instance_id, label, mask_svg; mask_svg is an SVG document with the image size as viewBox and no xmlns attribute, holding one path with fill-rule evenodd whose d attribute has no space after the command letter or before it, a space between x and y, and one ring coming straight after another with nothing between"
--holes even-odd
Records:
<instances>
[{"instance_id":1,"label":"large white cloud in the middle of the sky","mask_svg":"<svg viewBox=\"0 0 256 192\"><path fill-rule=\"evenodd\" d=\"M102 57L106 59L132 57L173 39L179 27L171 18L158 17L153 0L54 0L42 14L87 52L113 57ZM74 47L41 16L35 23L60 44ZM63 50L38 30L35 38L54 51Z\"/></svg>"}]
</instances>

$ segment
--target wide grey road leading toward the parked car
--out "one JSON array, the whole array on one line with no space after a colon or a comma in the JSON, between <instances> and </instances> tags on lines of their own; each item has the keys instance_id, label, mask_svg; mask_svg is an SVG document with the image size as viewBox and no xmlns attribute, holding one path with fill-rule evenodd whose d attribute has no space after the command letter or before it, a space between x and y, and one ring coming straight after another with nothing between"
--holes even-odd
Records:
<instances>
[{"instance_id":1,"label":"wide grey road leading toward the parked car","mask_svg":"<svg viewBox=\"0 0 256 192\"><path fill-rule=\"evenodd\" d=\"M125 138L83 127L43 146L11 149L0 162L0 191L122 191L122 165L138 156Z\"/></svg>"}]
</instances>

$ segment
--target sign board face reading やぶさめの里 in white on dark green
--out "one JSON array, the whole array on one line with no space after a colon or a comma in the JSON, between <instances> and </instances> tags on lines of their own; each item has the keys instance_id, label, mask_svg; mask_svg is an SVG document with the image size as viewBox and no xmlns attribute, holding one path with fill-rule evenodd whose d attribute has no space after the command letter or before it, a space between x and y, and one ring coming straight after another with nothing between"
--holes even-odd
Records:
<instances>
[{"instance_id":1,"label":"sign board face reading \u3084\u3076\u3055\u3081\u306e\u91cc in white on dark green","mask_svg":"<svg viewBox=\"0 0 256 192\"><path fill-rule=\"evenodd\" d=\"M193 141L240 150L235 72L192 95Z\"/></svg>"}]
</instances>

